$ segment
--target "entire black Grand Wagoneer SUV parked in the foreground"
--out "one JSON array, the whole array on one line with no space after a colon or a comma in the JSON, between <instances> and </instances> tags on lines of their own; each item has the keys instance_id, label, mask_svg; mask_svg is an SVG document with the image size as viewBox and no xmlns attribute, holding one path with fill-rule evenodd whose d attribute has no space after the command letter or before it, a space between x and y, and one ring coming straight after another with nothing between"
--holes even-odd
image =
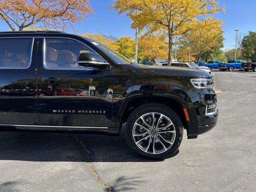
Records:
<instances>
[{"instance_id":1,"label":"entire black Grand Wagoneer SUV parked in the foreground","mask_svg":"<svg viewBox=\"0 0 256 192\"><path fill-rule=\"evenodd\" d=\"M0 32L1 130L119 133L151 158L168 158L218 119L213 77L134 64L111 48L57 31Z\"/></svg>"}]
</instances>

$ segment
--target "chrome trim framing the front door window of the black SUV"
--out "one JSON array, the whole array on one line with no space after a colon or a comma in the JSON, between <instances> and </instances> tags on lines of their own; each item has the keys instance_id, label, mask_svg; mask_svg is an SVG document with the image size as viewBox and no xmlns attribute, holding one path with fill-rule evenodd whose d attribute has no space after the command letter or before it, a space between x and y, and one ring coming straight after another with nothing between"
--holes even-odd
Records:
<instances>
[{"instance_id":1,"label":"chrome trim framing the front door window of the black SUV","mask_svg":"<svg viewBox=\"0 0 256 192\"><path fill-rule=\"evenodd\" d=\"M86 45L85 43L83 43L83 42L81 42L81 41L79 41L79 40L77 40L77 39L73 39L73 38L68 38L68 37L48 37L48 36L46 36L46 37L44 37L44 36L40 36L39 38L44 38L44 40L43 40L43 67L45 68L45 69L47 69L47 70L84 70L84 71L92 71L92 70L94 70L93 68L50 68L50 67L47 67L46 66L46 38L49 38L49 39L52 39L52 38L58 38L58 39L70 39L70 40L74 40L74 41L77 41L77 42L79 42L79 43L81 43L81 44L83 44L84 46L86 46L86 47L88 47L90 50L92 50L94 53L96 53L96 54L98 54L95 50L93 50L92 48L90 48L88 45ZM104 59L104 58L102 58L102 59ZM104 60L104 61L106 61L106 60ZM108 62L106 62L106 64L109 64ZM111 65L110 65L111 66ZM112 68L111 68L112 69Z\"/></svg>"}]
</instances>

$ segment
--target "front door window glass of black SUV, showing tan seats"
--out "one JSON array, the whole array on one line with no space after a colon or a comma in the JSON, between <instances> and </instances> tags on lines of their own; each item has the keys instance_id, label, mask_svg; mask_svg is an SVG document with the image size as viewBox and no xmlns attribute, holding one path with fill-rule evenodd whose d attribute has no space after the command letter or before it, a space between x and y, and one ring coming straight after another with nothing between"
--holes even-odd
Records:
<instances>
[{"instance_id":1,"label":"front door window glass of black SUV, showing tan seats","mask_svg":"<svg viewBox=\"0 0 256 192\"><path fill-rule=\"evenodd\" d=\"M78 64L79 55L95 53L80 42L59 38L46 38L44 50L44 65L48 68L84 68Z\"/></svg>"}]
</instances>

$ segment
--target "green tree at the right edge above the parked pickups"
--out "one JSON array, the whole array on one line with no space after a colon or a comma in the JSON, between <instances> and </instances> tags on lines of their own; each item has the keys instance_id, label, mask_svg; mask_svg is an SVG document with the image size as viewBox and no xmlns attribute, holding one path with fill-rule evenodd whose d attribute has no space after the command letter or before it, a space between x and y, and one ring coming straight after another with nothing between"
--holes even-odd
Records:
<instances>
[{"instance_id":1,"label":"green tree at the right edge above the parked pickups","mask_svg":"<svg viewBox=\"0 0 256 192\"><path fill-rule=\"evenodd\" d=\"M246 60L256 59L256 32L250 31L242 40L242 56Z\"/></svg>"}]
</instances>

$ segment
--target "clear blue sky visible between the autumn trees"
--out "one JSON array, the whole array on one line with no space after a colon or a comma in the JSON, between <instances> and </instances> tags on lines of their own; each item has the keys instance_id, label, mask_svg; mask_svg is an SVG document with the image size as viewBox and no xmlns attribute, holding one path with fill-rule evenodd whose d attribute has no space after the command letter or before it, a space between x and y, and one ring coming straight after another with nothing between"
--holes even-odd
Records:
<instances>
[{"instance_id":1,"label":"clear blue sky visible between the autumn trees","mask_svg":"<svg viewBox=\"0 0 256 192\"><path fill-rule=\"evenodd\" d=\"M256 0L218 0L221 6L226 6L226 13L215 15L226 22L224 29L224 48L234 48L235 29L239 29L243 34L249 30L256 31L255 8ZM100 33L110 34L115 37L132 36L134 30L130 28L131 20L125 14L118 15L109 6L112 0L91 0L91 6L95 14L90 14L89 18L76 24L79 33ZM8 30L7 24L0 22L0 30ZM71 29L67 32L74 33Z\"/></svg>"}]
</instances>

